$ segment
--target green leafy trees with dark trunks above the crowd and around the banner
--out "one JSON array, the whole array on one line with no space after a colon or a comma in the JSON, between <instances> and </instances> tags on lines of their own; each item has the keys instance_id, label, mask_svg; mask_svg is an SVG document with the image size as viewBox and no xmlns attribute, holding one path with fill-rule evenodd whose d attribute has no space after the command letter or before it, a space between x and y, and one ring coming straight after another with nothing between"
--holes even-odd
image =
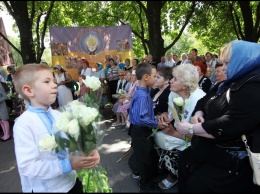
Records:
<instances>
[{"instance_id":1,"label":"green leafy trees with dark trunks above the crowd and around the banner","mask_svg":"<svg viewBox=\"0 0 260 194\"><path fill-rule=\"evenodd\" d=\"M18 27L20 47L14 49L22 56L23 63L42 61L44 39L50 26L130 25L134 57L141 58L151 53L158 62L169 51L180 55L197 48L200 54L205 50L219 53L220 48L231 40L258 42L260 35L259 1L1 3Z\"/></svg>"}]
</instances>

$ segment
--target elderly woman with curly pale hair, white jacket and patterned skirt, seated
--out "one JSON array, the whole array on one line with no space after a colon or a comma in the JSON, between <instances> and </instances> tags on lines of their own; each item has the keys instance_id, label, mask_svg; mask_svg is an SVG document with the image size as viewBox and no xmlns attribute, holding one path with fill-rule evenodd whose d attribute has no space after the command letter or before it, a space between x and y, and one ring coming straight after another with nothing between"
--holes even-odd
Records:
<instances>
[{"instance_id":1,"label":"elderly woman with curly pale hair, white jacket and patterned skirt, seated","mask_svg":"<svg viewBox=\"0 0 260 194\"><path fill-rule=\"evenodd\" d=\"M178 65L173 68L173 78L170 80L171 93L168 97L168 104L174 108L174 98L181 97L184 103L183 121L190 121L191 114L197 104L197 101L206 95L198 86L199 74L197 69L192 64ZM177 109L177 108L176 108ZM174 119L171 109L168 113L163 113L158 117L161 121L169 121L171 124L160 133L171 136L173 139L179 140L182 146L171 150L159 149L160 159L159 168L168 170L168 175L159 183L162 189L169 189L178 182L178 159L179 154L190 145L191 135L185 137L174 128Z\"/></svg>"}]
</instances>

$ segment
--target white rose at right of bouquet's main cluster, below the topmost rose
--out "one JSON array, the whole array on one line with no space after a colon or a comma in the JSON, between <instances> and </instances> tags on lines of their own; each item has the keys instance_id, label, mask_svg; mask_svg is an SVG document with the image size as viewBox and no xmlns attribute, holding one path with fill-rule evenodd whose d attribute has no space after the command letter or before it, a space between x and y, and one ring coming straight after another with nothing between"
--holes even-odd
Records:
<instances>
[{"instance_id":1,"label":"white rose at right of bouquet's main cluster, below the topmost rose","mask_svg":"<svg viewBox=\"0 0 260 194\"><path fill-rule=\"evenodd\" d=\"M82 109L80 122L82 125L87 126L89 123L93 122L98 116L99 112L96 108L85 107Z\"/></svg>"}]
</instances>

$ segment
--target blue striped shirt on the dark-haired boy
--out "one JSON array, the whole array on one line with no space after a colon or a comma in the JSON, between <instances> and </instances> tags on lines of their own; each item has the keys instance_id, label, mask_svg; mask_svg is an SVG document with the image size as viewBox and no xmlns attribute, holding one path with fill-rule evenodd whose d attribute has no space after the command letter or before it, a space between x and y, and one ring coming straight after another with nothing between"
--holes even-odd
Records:
<instances>
[{"instance_id":1,"label":"blue striped shirt on the dark-haired boy","mask_svg":"<svg viewBox=\"0 0 260 194\"><path fill-rule=\"evenodd\" d=\"M153 101L147 88L137 86L130 103L129 118L133 125L157 128L158 121L154 117Z\"/></svg>"}]
</instances>

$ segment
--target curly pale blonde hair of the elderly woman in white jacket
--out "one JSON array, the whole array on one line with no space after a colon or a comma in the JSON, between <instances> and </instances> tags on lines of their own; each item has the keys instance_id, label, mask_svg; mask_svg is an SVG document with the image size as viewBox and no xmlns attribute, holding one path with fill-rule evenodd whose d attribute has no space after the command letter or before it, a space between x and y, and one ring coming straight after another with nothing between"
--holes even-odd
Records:
<instances>
[{"instance_id":1,"label":"curly pale blonde hair of the elderly woman in white jacket","mask_svg":"<svg viewBox=\"0 0 260 194\"><path fill-rule=\"evenodd\" d=\"M199 73L192 64L177 65L173 68L172 75L180 78L181 83L187 87L187 91L190 93L194 92L199 85Z\"/></svg>"}]
</instances>

